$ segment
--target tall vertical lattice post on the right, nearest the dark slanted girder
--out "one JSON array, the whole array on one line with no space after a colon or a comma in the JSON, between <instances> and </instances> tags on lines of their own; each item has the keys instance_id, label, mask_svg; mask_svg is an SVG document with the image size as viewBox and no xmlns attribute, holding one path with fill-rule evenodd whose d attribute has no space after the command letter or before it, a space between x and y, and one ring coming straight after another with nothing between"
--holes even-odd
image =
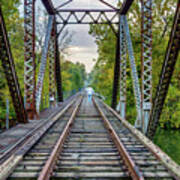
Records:
<instances>
[{"instance_id":1,"label":"tall vertical lattice post on the right, nearest the dark slanted girder","mask_svg":"<svg viewBox=\"0 0 180 180\"><path fill-rule=\"evenodd\" d=\"M152 108L152 0L141 0L142 128L147 132Z\"/></svg>"}]
</instances>

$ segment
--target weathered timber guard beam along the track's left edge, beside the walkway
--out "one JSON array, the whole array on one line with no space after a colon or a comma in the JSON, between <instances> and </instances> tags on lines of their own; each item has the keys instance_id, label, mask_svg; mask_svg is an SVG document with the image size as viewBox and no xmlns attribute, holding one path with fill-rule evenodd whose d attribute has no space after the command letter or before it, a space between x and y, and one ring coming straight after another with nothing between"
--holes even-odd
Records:
<instances>
[{"instance_id":1,"label":"weathered timber guard beam along the track's left edge, beside the walkway","mask_svg":"<svg viewBox=\"0 0 180 180\"><path fill-rule=\"evenodd\" d=\"M79 96L79 95L77 95ZM68 103L58 114L54 113L45 121L40 127L32 131L30 138L28 138L23 146L21 146L15 153L13 153L3 164L0 165L0 179L6 179L16 168L24 155L31 149L31 147L51 128L58 119L73 105L76 99ZM24 141L24 139L22 139Z\"/></svg>"}]
</instances>

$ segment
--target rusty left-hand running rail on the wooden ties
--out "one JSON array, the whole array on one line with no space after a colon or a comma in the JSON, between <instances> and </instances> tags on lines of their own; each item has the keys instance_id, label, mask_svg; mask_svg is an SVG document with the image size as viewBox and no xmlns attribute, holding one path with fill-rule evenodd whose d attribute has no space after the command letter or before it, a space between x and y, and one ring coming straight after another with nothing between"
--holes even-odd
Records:
<instances>
[{"instance_id":1,"label":"rusty left-hand running rail on the wooden ties","mask_svg":"<svg viewBox=\"0 0 180 180\"><path fill-rule=\"evenodd\" d=\"M59 154L61 153L62 149L63 149L63 144L68 136L68 133L72 127L73 121L75 119L75 116L79 110L79 107L81 105L82 102L82 97L79 99L79 101L76 104L76 107L68 121L68 123L66 124L61 136L59 137L53 151L51 152L51 155L49 157L49 159L46 161L42 171L39 174L38 180L48 180L51 176L51 173L54 169L54 166L56 165L56 161L58 159Z\"/></svg>"}]
</instances>

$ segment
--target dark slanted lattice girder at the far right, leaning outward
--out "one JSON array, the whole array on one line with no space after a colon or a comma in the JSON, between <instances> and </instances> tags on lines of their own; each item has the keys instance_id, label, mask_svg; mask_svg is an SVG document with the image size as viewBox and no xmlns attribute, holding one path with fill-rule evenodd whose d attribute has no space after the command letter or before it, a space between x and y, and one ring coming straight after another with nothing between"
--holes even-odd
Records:
<instances>
[{"instance_id":1,"label":"dark slanted lattice girder at the far right, leaning outward","mask_svg":"<svg viewBox=\"0 0 180 180\"><path fill-rule=\"evenodd\" d=\"M163 62L159 84L156 91L156 96L153 102L152 113L148 126L147 135L153 138L159 123L163 105L168 93L169 84L175 68L180 49L180 0L178 0L174 23L171 30L169 44L166 50L165 59Z\"/></svg>"}]
</instances>

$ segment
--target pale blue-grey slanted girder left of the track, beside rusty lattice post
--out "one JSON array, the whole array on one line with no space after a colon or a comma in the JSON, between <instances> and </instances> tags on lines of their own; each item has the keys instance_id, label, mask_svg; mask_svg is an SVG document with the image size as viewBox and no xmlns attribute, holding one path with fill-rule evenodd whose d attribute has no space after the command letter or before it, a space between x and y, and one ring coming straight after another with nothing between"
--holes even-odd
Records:
<instances>
[{"instance_id":1,"label":"pale blue-grey slanted girder left of the track, beside rusty lattice post","mask_svg":"<svg viewBox=\"0 0 180 180\"><path fill-rule=\"evenodd\" d=\"M43 81L44 81L44 75L45 75L45 70L46 70L47 55L48 55L48 49L49 49L49 43L50 43L50 39L51 39L53 24L54 24L54 16L49 15L47 31L46 31L46 36L45 36L45 42L44 42L44 47L43 47L42 56L41 56L41 64L40 64L38 80L37 80L37 88L36 88L36 111L37 111L37 113L39 113L39 110L40 110Z\"/></svg>"}]
</instances>

